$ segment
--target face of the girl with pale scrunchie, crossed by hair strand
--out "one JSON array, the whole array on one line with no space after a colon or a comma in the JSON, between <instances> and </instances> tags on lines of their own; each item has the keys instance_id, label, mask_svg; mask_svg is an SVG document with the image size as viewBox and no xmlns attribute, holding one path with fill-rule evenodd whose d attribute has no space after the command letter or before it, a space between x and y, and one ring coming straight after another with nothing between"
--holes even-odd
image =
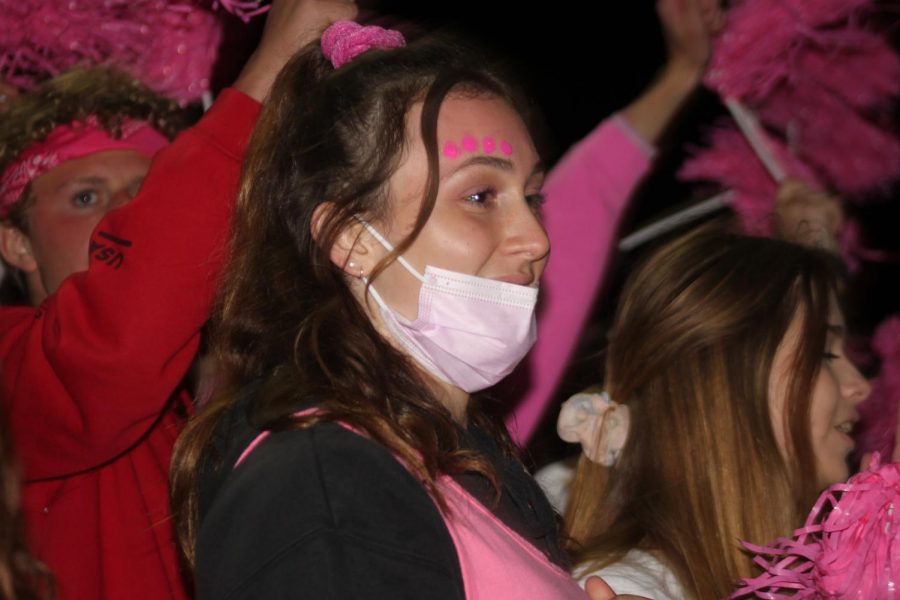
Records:
<instances>
[{"instance_id":1,"label":"face of the girl with pale scrunchie, crossed by hair strand","mask_svg":"<svg viewBox=\"0 0 900 600\"><path fill-rule=\"evenodd\" d=\"M847 456L854 448L851 437L859 420L857 404L870 391L869 382L860 374L844 352L844 318L832 301L828 318L828 337L822 349L822 365L816 376L810 401L810 441L816 461L819 487L845 481L849 477ZM801 332L800 315L795 315L775 353L769 378L769 398L775 438L782 454L786 454L785 403L792 379L793 361Z\"/></svg>"}]
</instances>

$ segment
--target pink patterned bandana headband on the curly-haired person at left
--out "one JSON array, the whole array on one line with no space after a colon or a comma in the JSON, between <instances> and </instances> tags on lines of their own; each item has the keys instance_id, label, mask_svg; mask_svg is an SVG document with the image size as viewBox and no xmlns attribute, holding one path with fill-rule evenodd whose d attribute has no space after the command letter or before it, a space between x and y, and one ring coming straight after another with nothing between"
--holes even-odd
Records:
<instances>
[{"instance_id":1,"label":"pink patterned bandana headband on the curly-haired person at left","mask_svg":"<svg viewBox=\"0 0 900 600\"><path fill-rule=\"evenodd\" d=\"M7 217L31 180L66 161L110 150L134 150L153 156L168 143L168 138L144 121L124 121L120 139L111 138L96 117L89 117L85 123L60 125L44 141L26 148L3 172L0 177L0 219Z\"/></svg>"}]
</instances>

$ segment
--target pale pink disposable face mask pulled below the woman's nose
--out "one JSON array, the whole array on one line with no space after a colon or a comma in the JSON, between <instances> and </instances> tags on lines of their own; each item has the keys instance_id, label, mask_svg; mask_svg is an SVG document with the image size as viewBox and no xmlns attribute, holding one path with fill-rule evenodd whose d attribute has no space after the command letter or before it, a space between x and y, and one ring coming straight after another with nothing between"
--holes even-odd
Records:
<instances>
[{"instance_id":1,"label":"pale pink disposable face mask pulled below the woman's nose","mask_svg":"<svg viewBox=\"0 0 900 600\"><path fill-rule=\"evenodd\" d=\"M394 247L374 227L360 222L389 252ZM537 339L538 290L432 266L425 275L402 256L397 261L416 279L419 316L409 321L369 290L391 335L435 377L472 393L506 377Z\"/></svg>"}]
</instances>

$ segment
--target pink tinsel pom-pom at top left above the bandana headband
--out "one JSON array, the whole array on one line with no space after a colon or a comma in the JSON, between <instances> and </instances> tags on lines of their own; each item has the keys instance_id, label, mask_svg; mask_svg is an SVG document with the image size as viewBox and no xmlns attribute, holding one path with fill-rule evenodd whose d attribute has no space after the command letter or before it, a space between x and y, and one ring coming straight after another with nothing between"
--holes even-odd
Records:
<instances>
[{"instance_id":1,"label":"pink tinsel pom-pom at top left above the bandana headband","mask_svg":"<svg viewBox=\"0 0 900 600\"><path fill-rule=\"evenodd\" d=\"M252 0L219 0L245 20ZM113 65L182 104L209 90L222 24L198 0L16 0L0 10L0 78L23 89Z\"/></svg>"}]
</instances>

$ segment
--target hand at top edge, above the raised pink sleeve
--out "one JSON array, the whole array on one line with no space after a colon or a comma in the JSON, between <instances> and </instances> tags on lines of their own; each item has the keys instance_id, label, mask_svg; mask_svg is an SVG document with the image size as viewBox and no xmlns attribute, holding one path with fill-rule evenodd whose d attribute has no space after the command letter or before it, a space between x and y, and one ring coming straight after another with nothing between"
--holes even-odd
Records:
<instances>
[{"instance_id":1,"label":"hand at top edge, above the raised pink sleeve","mask_svg":"<svg viewBox=\"0 0 900 600\"><path fill-rule=\"evenodd\" d=\"M711 36L722 27L719 0L658 0L656 13L666 38L669 68L699 79L709 62Z\"/></svg>"}]
</instances>

